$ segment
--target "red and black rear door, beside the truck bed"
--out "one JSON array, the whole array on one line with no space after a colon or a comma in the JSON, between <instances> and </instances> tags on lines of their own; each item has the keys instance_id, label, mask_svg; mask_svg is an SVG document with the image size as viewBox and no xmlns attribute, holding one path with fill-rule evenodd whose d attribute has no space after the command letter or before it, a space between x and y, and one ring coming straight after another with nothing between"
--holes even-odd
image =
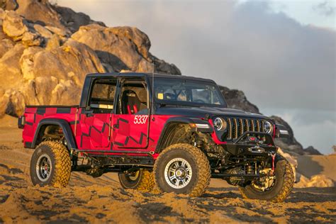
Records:
<instances>
[{"instance_id":1,"label":"red and black rear door, beside the truck bed","mask_svg":"<svg viewBox=\"0 0 336 224\"><path fill-rule=\"evenodd\" d=\"M111 148L111 124L116 78L96 78L92 80L86 108L82 108L80 124L82 128L82 149L106 150Z\"/></svg>"}]
</instances>

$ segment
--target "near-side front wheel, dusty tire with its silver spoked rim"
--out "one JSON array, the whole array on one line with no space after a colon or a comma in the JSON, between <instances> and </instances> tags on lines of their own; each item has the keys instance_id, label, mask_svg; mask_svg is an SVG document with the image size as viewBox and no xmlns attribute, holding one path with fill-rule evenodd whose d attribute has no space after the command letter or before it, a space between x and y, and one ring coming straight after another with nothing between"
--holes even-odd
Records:
<instances>
[{"instance_id":1,"label":"near-side front wheel, dusty tire with its silver spoked rim","mask_svg":"<svg viewBox=\"0 0 336 224\"><path fill-rule=\"evenodd\" d=\"M208 159L197 147L175 144L164 149L154 164L159 191L201 196L210 183Z\"/></svg>"}]
</instances>

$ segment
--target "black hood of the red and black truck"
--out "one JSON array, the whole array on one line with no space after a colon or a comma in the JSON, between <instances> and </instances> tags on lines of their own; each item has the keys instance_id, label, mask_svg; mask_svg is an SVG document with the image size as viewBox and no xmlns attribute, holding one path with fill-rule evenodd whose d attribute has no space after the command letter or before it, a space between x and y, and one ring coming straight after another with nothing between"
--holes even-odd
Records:
<instances>
[{"instance_id":1,"label":"black hood of the red and black truck","mask_svg":"<svg viewBox=\"0 0 336 224\"><path fill-rule=\"evenodd\" d=\"M214 116L223 117L240 117L240 118L259 118L271 120L267 116L257 113L250 113L233 108L213 108L213 107L175 107L164 106L157 108L157 115L179 115L193 118L205 118L207 115L213 118Z\"/></svg>"}]
</instances>

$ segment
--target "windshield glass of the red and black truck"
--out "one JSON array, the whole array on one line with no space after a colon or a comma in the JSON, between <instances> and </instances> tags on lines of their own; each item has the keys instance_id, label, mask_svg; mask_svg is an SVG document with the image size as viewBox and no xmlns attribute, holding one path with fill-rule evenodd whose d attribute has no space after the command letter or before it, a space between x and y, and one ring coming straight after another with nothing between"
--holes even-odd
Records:
<instances>
[{"instance_id":1,"label":"windshield glass of the red and black truck","mask_svg":"<svg viewBox=\"0 0 336 224\"><path fill-rule=\"evenodd\" d=\"M155 77L154 94L162 104L226 107L218 86L212 82Z\"/></svg>"}]
</instances>

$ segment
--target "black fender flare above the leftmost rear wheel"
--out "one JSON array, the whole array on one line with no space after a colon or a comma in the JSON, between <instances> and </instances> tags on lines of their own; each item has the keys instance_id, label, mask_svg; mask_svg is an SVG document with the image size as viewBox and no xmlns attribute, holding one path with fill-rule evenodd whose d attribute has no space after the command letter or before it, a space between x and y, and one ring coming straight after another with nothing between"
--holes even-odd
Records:
<instances>
[{"instance_id":1,"label":"black fender flare above the leftmost rear wheel","mask_svg":"<svg viewBox=\"0 0 336 224\"><path fill-rule=\"evenodd\" d=\"M60 128L62 128L63 130L63 134L65 135L65 140L67 140L67 146L69 147L69 150L77 148L76 142L74 141L74 135L72 134L72 129L70 128L69 123L63 119L56 119L56 118L45 118L38 123L38 127L35 130L34 139L31 145L32 148L36 147L36 142L39 137L38 135L43 125L60 126Z\"/></svg>"}]
</instances>

